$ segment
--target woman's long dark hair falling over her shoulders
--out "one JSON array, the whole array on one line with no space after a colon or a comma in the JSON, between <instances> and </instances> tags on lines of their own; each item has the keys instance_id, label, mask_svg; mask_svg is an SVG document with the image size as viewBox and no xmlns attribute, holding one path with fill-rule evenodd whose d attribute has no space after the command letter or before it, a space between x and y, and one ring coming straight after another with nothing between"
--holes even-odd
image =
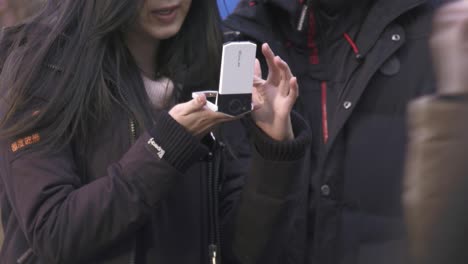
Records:
<instances>
[{"instance_id":1,"label":"woman's long dark hair falling over her shoulders","mask_svg":"<svg viewBox=\"0 0 468 264\"><path fill-rule=\"evenodd\" d=\"M144 0L48 0L0 41L3 138L41 131L41 145L86 142L116 105L149 124L139 70L123 36ZM192 0L180 32L161 43L158 72L176 83L177 101L216 82L222 35L215 0ZM0 63L0 64L1 64Z\"/></svg>"}]
</instances>

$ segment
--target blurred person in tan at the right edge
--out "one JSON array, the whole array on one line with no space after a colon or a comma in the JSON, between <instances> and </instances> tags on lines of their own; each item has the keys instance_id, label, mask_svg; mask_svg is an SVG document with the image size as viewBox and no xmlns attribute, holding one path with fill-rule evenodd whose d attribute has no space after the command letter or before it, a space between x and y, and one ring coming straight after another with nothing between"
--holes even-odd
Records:
<instances>
[{"instance_id":1,"label":"blurred person in tan at the right edge","mask_svg":"<svg viewBox=\"0 0 468 264\"><path fill-rule=\"evenodd\" d=\"M409 106L404 202L414 264L468 263L468 1L442 7L437 94Z\"/></svg>"}]
</instances>

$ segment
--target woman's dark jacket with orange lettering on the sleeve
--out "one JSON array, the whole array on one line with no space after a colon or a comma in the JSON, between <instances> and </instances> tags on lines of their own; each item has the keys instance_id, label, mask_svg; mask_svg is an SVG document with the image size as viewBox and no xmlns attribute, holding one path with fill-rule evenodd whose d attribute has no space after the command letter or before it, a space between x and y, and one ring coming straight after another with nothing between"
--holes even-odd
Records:
<instances>
[{"instance_id":1,"label":"woman's dark jacket with orange lettering on the sleeve","mask_svg":"<svg viewBox=\"0 0 468 264\"><path fill-rule=\"evenodd\" d=\"M47 98L38 99L24 114L40 111ZM223 147L202 144L164 111L142 131L119 107L88 142L53 153L27 151L47 136L41 131L4 139L0 263L236 263L250 253L233 241L260 238L251 227L278 227L276 213L262 212L279 214L297 197L289 173L300 175L310 140L305 121L293 120L296 139L281 143L251 126L252 150L238 122L222 129ZM76 144L87 146L85 156Z\"/></svg>"}]
</instances>

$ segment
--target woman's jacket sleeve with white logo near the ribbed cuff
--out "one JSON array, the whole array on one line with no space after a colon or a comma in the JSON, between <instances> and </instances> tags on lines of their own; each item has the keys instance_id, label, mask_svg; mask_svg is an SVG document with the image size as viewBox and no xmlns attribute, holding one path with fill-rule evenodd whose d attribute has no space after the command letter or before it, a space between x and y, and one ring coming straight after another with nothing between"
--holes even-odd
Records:
<instances>
[{"instance_id":1,"label":"woman's jacket sleeve with white logo near the ribbed cuff","mask_svg":"<svg viewBox=\"0 0 468 264\"><path fill-rule=\"evenodd\" d=\"M158 123L108 166L107 175L90 183L77 174L69 147L54 153L22 152L15 143L2 142L1 179L41 263L84 263L113 243L132 238L186 165L199 159L197 139L167 114ZM151 142L166 150L167 159L155 155ZM184 154L172 163L174 146Z\"/></svg>"}]
</instances>

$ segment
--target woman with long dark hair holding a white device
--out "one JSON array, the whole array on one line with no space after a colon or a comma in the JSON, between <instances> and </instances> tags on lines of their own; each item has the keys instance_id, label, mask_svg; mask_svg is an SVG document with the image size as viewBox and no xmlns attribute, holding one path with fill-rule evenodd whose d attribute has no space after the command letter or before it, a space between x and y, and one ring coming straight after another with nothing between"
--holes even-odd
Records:
<instances>
[{"instance_id":1,"label":"woman with long dark hair holding a white device","mask_svg":"<svg viewBox=\"0 0 468 264\"><path fill-rule=\"evenodd\" d=\"M270 238L249 228L275 227L309 139L291 122L296 80L265 45L240 198L239 166L208 135L231 118L185 102L216 85L218 17L215 0L49 0L5 33L2 263L215 263L221 242L258 260ZM235 246L252 236L258 251Z\"/></svg>"}]
</instances>

